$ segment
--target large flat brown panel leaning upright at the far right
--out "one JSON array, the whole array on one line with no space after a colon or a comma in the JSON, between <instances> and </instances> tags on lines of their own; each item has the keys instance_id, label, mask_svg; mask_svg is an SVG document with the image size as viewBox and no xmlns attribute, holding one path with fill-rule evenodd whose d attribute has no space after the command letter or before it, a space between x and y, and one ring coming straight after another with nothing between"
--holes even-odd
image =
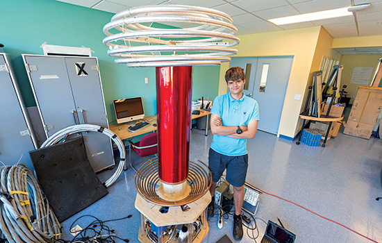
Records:
<instances>
[{"instance_id":1,"label":"large flat brown panel leaning upright at the far right","mask_svg":"<svg viewBox=\"0 0 382 243\"><path fill-rule=\"evenodd\" d=\"M344 134L369 139L382 110L382 87L358 87Z\"/></svg>"}]
</instances>

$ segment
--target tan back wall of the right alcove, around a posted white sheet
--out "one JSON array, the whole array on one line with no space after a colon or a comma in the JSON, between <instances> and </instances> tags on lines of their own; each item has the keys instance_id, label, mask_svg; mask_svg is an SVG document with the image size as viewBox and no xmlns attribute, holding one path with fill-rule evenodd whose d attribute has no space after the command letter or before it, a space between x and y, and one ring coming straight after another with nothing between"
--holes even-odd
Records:
<instances>
[{"instance_id":1,"label":"tan back wall of the right alcove, around a posted white sheet","mask_svg":"<svg viewBox=\"0 0 382 243\"><path fill-rule=\"evenodd\" d=\"M372 82L376 65L379 63L379 58L382 58L381 54L376 55L344 55L340 62L341 65L344 65L341 75L341 87L342 85L347 85L345 89L348 94L347 97L351 97L350 103L353 103L354 96L356 96L358 91L359 84L351 84L351 74L354 72L354 67L373 67L373 73L370 77L369 84ZM350 76L349 76L350 74ZM365 85L362 85L365 86Z\"/></svg>"}]
</instances>

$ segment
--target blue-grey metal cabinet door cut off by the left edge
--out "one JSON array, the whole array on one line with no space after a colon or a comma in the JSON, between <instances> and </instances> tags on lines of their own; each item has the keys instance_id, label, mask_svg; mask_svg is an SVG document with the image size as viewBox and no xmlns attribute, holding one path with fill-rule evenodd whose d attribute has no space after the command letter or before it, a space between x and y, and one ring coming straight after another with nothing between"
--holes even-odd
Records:
<instances>
[{"instance_id":1,"label":"blue-grey metal cabinet door cut off by the left edge","mask_svg":"<svg viewBox=\"0 0 382 243\"><path fill-rule=\"evenodd\" d=\"M6 165L15 165L22 156L20 162L33 169L28 152L35 147L22 112L24 104L17 98L17 83L11 79L14 78L12 67L6 59L5 54L0 54L0 160Z\"/></svg>"}]
</instances>

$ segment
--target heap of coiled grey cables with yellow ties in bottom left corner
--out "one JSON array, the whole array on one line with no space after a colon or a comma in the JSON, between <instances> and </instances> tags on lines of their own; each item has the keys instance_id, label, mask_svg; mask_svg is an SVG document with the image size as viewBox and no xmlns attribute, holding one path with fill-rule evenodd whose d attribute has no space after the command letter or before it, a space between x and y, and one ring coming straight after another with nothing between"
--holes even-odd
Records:
<instances>
[{"instance_id":1,"label":"heap of coiled grey cables with yellow ties in bottom left corner","mask_svg":"<svg viewBox=\"0 0 382 243\"><path fill-rule=\"evenodd\" d=\"M51 242L60 223L26 165L1 168L0 230L8 242Z\"/></svg>"}]
</instances>

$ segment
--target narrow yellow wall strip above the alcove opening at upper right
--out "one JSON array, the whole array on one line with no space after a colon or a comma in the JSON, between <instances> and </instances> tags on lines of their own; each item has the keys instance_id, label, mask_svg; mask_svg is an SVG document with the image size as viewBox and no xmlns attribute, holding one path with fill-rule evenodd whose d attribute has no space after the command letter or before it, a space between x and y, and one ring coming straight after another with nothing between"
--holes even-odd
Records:
<instances>
[{"instance_id":1,"label":"narrow yellow wall strip above the alcove opening at upper right","mask_svg":"<svg viewBox=\"0 0 382 243\"><path fill-rule=\"evenodd\" d=\"M348 47L381 47L382 35L336 38L333 40L332 48Z\"/></svg>"}]
</instances>

